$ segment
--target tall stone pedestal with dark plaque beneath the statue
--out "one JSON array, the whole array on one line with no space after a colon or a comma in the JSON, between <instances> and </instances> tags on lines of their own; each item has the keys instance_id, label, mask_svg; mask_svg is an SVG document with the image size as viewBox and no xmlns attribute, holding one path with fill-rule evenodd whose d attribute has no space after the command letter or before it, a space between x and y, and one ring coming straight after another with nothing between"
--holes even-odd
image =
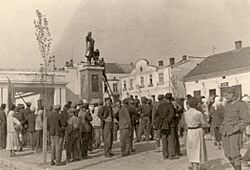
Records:
<instances>
[{"instance_id":1,"label":"tall stone pedestal with dark plaque beneath the statue","mask_svg":"<svg viewBox=\"0 0 250 170\"><path fill-rule=\"evenodd\" d=\"M96 103L103 99L103 67L86 65L80 71L81 99Z\"/></svg>"}]
</instances>

